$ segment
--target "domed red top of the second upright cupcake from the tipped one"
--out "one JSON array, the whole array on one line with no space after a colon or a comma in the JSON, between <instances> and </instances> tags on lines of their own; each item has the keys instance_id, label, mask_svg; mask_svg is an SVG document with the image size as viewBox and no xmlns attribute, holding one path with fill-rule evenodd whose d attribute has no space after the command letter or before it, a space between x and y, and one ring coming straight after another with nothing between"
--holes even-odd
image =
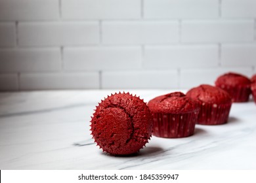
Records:
<instances>
[{"instance_id":1,"label":"domed red top of the second upright cupcake from the tipped one","mask_svg":"<svg viewBox=\"0 0 256 183\"><path fill-rule=\"evenodd\" d=\"M223 104L231 103L232 101L228 92L209 84L202 84L196 88L192 88L188 90L186 95L201 103Z\"/></svg>"}]
</instances>

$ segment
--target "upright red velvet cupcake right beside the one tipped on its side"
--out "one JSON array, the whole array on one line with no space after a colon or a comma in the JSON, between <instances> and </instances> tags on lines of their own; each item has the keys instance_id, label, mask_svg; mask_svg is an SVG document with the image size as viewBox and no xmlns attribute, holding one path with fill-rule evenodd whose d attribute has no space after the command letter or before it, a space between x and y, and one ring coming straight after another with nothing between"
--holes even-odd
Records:
<instances>
[{"instance_id":1,"label":"upright red velvet cupcake right beside the one tipped on its side","mask_svg":"<svg viewBox=\"0 0 256 183\"><path fill-rule=\"evenodd\" d=\"M181 92L161 95L148 102L153 114L153 135L179 138L194 134L200 107Z\"/></svg>"}]
</instances>

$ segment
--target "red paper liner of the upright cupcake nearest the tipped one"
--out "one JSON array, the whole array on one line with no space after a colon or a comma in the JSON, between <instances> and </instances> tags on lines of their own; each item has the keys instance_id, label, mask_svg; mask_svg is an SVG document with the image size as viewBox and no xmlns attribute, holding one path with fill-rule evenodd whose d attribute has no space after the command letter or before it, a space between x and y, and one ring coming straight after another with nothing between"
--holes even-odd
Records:
<instances>
[{"instance_id":1,"label":"red paper liner of the upright cupcake nearest the tipped one","mask_svg":"<svg viewBox=\"0 0 256 183\"><path fill-rule=\"evenodd\" d=\"M181 138L194 134L199 110L184 114L153 114L152 135L164 138Z\"/></svg>"}]
</instances>

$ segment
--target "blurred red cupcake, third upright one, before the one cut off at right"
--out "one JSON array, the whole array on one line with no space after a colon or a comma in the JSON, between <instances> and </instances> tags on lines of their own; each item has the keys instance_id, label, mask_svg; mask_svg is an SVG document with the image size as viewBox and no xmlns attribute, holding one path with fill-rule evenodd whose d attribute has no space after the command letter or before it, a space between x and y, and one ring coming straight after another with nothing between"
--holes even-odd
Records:
<instances>
[{"instance_id":1,"label":"blurred red cupcake, third upright one, before the one cut off at right","mask_svg":"<svg viewBox=\"0 0 256 183\"><path fill-rule=\"evenodd\" d=\"M247 102L249 100L251 81L246 76L226 73L217 78L215 86L228 92L233 102Z\"/></svg>"}]
</instances>

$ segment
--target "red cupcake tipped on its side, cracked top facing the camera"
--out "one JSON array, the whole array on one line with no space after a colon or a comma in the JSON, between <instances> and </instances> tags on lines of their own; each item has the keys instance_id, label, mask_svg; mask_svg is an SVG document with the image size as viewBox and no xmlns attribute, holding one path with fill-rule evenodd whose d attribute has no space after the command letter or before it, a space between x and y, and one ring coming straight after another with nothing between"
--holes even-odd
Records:
<instances>
[{"instance_id":1,"label":"red cupcake tipped on its side, cracked top facing the camera","mask_svg":"<svg viewBox=\"0 0 256 183\"><path fill-rule=\"evenodd\" d=\"M152 115L139 97L116 93L96 107L91 131L103 151L114 155L134 154L151 137Z\"/></svg>"}]
</instances>

